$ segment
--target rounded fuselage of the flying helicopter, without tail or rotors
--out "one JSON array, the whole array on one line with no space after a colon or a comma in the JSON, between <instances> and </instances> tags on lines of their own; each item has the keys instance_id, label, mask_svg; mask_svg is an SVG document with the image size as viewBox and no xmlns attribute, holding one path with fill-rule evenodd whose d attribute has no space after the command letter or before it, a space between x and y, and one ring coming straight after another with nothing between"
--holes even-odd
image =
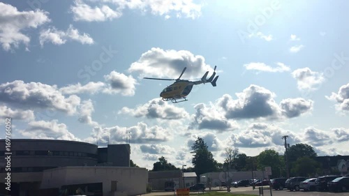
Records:
<instances>
[{"instance_id":1,"label":"rounded fuselage of the flying helicopter, without tail or rotors","mask_svg":"<svg viewBox=\"0 0 349 196\"><path fill-rule=\"evenodd\" d=\"M193 85L193 82L188 80L177 81L163 89L160 96L164 100L185 98L193 89Z\"/></svg>"}]
</instances>

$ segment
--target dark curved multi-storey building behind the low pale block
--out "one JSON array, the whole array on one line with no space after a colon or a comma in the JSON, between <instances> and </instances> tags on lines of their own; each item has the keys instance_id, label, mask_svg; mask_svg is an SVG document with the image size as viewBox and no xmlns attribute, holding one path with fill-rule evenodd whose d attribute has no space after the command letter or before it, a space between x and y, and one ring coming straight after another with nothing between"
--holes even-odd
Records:
<instances>
[{"instance_id":1,"label":"dark curved multi-storey building behind the low pale block","mask_svg":"<svg viewBox=\"0 0 349 196\"><path fill-rule=\"evenodd\" d=\"M8 194L4 184L7 181L5 178L8 176L8 172L10 172L11 182L10 195L38 196L43 181L43 172L47 169L71 166L130 166L131 150L129 144L110 144L105 148L98 148L97 145L86 142L13 139L10 141L11 154L7 154L8 152L5 151L5 140L0 140L0 146L3 146L3 151L0 151L0 194ZM10 161L6 160L5 156L10 156ZM10 165L10 171L6 170L6 165ZM142 169L135 170L135 172L143 174ZM113 171L111 170L114 174L128 175L127 172ZM119 176L115 176L115 178L119 178ZM138 181L136 179L138 175L134 175L134 178L133 181ZM147 179L144 181L144 185L146 183ZM103 188L103 190L105 189ZM144 188L143 193L145 192L146 188Z\"/></svg>"}]
</instances>

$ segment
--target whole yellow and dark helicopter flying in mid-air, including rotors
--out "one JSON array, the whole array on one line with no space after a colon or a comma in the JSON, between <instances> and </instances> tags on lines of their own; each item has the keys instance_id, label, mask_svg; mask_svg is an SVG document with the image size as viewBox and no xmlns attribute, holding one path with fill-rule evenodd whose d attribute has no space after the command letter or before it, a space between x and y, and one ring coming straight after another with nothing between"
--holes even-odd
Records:
<instances>
[{"instance_id":1,"label":"whole yellow and dark helicopter flying in mid-air, including rotors","mask_svg":"<svg viewBox=\"0 0 349 196\"><path fill-rule=\"evenodd\" d=\"M143 77L144 79L149 80L176 80L173 84L163 89L163 91L160 93L161 98L163 98L164 101L171 100L172 103L179 103L182 101L186 101L186 96L191 92L191 89L193 89L193 85L198 84L205 84L205 83L211 83L212 86L216 86L216 81L218 79L218 75L216 75L216 67L214 66L214 73L207 79L207 75L209 74L209 71L205 73L205 75L202 76L201 80L198 81L189 81L189 80L180 80L181 75L186 71L186 68L183 69L181 72L181 75L177 79L163 79L163 78L154 78L154 77Z\"/></svg>"}]
</instances>

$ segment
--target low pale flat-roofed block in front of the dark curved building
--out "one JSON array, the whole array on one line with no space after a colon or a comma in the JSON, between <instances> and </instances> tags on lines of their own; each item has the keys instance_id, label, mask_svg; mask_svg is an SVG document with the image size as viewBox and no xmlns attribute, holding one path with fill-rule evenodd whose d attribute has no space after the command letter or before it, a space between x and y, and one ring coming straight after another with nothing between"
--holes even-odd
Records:
<instances>
[{"instance_id":1,"label":"low pale flat-roofed block in front of the dark curved building","mask_svg":"<svg viewBox=\"0 0 349 196\"><path fill-rule=\"evenodd\" d=\"M146 193L148 171L139 167L59 167L43 172L41 189L52 189L67 185L101 183L104 195L140 195ZM77 186L78 187L78 186Z\"/></svg>"}]
</instances>

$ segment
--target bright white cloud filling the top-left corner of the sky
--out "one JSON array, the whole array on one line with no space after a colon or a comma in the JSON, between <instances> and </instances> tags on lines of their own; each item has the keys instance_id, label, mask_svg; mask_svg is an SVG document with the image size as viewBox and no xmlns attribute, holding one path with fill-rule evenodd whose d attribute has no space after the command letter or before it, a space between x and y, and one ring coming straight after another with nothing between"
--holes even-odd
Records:
<instances>
[{"instance_id":1,"label":"bright white cloud filling the top-left corner of the sky","mask_svg":"<svg viewBox=\"0 0 349 196\"><path fill-rule=\"evenodd\" d=\"M0 2L0 43L3 50L17 48L20 43L28 46L30 38L22 31L30 28L36 29L40 25L50 22L48 14L43 10L21 12L14 6ZM26 47L26 49L28 48Z\"/></svg>"}]
</instances>

